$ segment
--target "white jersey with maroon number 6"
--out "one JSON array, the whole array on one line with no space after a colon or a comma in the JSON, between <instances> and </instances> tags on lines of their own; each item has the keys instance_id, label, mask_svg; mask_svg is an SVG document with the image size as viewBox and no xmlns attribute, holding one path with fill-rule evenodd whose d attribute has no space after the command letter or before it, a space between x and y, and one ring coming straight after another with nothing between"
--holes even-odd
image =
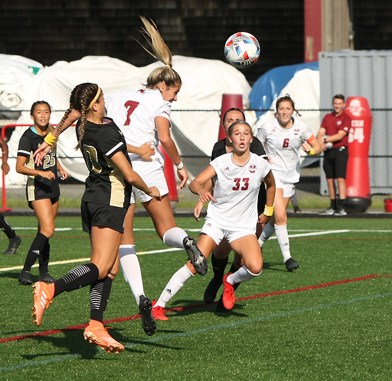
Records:
<instances>
[{"instance_id":1,"label":"white jersey with maroon number 6","mask_svg":"<svg viewBox=\"0 0 392 381\"><path fill-rule=\"evenodd\" d=\"M311 128L294 117L290 128L283 128L275 118L257 129L257 138L264 145L276 179L286 184L299 181L301 147L311 136Z\"/></svg>"}]
</instances>

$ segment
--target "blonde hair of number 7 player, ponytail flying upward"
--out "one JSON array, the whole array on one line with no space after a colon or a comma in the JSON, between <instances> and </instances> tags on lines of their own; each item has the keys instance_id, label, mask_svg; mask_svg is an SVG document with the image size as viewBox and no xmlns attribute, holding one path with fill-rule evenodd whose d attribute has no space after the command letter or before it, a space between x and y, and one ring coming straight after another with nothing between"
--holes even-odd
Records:
<instances>
[{"instance_id":1,"label":"blonde hair of number 7 player, ponytail flying upward","mask_svg":"<svg viewBox=\"0 0 392 381\"><path fill-rule=\"evenodd\" d=\"M152 20L148 21L146 17L140 16L140 18L144 24L144 28L141 28L140 31L151 47L152 52L146 49L141 43L140 45L142 45L146 52L164 64L164 66L157 67L149 73L147 87L153 89L161 82L164 82L167 87L181 85L181 77L173 69L172 54L159 34L155 23Z\"/></svg>"}]
</instances>

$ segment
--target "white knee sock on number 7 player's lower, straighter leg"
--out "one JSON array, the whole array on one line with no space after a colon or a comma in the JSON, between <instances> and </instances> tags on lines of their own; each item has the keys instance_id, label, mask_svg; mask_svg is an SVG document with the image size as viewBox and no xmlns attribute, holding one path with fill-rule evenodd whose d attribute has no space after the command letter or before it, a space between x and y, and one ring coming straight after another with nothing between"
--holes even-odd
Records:
<instances>
[{"instance_id":1,"label":"white knee sock on number 7 player's lower, straighter leg","mask_svg":"<svg viewBox=\"0 0 392 381\"><path fill-rule=\"evenodd\" d=\"M136 304L139 306L139 296L144 295L144 288L135 245L120 245L118 252L120 254L120 266L124 278L131 287Z\"/></svg>"}]
</instances>

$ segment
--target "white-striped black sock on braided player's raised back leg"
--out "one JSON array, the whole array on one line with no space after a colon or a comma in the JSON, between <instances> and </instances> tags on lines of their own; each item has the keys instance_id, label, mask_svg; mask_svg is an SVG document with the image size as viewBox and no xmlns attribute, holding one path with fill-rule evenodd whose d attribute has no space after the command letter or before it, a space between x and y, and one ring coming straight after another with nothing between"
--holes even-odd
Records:
<instances>
[{"instance_id":1,"label":"white-striped black sock on braided player's raised back leg","mask_svg":"<svg viewBox=\"0 0 392 381\"><path fill-rule=\"evenodd\" d=\"M79 265L54 282L54 296L64 291L70 292L94 283L99 276L99 270L94 263Z\"/></svg>"}]
</instances>

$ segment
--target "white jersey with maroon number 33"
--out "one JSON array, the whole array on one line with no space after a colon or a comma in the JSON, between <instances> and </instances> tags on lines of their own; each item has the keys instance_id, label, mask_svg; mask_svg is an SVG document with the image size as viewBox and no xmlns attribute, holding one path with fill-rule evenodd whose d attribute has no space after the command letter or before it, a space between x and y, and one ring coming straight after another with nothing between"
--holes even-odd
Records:
<instances>
[{"instance_id":1,"label":"white jersey with maroon number 33","mask_svg":"<svg viewBox=\"0 0 392 381\"><path fill-rule=\"evenodd\" d=\"M216 176L214 199L207 208L207 216L221 229L256 229L257 198L262 179L271 169L262 157L250 153L245 165L233 162L233 153L221 155L210 165Z\"/></svg>"}]
</instances>

